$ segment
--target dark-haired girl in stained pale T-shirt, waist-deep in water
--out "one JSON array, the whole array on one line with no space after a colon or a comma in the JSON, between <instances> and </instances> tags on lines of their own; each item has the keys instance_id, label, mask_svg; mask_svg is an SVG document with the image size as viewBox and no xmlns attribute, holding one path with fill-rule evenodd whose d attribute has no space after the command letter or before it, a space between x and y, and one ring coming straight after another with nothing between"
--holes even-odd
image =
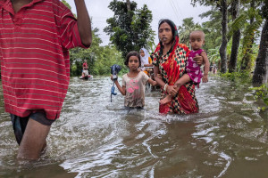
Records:
<instances>
[{"instance_id":1,"label":"dark-haired girl in stained pale T-shirt, waist-deep in water","mask_svg":"<svg viewBox=\"0 0 268 178\"><path fill-rule=\"evenodd\" d=\"M148 82L151 85L156 85L157 83L143 71L138 70L141 65L138 52L128 53L124 63L130 69L129 73L122 76L122 86L117 79L114 84L120 93L125 96L124 106L127 109L143 109L145 106L146 83ZM111 76L111 79L113 80L113 76Z\"/></svg>"}]
</instances>

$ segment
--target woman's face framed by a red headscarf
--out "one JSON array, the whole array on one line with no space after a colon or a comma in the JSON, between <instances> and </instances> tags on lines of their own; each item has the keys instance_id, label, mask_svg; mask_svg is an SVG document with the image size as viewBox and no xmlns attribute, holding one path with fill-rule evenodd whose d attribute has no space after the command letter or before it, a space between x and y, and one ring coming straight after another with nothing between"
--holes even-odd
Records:
<instances>
[{"instance_id":1,"label":"woman's face framed by a red headscarf","mask_svg":"<svg viewBox=\"0 0 268 178\"><path fill-rule=\"evenodd\" d=\"M163 22L158 29L158 36L163 45L172 43L172 27L168 23Z\"/></svg>"}]
</instances>

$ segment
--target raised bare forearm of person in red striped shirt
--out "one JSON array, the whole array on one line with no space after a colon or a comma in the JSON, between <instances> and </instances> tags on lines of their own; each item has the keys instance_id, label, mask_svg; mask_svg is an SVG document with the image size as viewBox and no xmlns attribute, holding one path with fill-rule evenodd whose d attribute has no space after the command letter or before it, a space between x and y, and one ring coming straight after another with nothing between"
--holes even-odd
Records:
<instances>
[{"instance_id":1,"label":"raised bare forearm of person in red striped shirt","mask_svg":"<svg viewBox=\"0 0 268 178\"><path fill-rule=\"evenodd\" d=\"M91 21L84 0L74 0L77 11L77 24L82 44L90 46L92 43Z\"/></svg>"}]
</instances>

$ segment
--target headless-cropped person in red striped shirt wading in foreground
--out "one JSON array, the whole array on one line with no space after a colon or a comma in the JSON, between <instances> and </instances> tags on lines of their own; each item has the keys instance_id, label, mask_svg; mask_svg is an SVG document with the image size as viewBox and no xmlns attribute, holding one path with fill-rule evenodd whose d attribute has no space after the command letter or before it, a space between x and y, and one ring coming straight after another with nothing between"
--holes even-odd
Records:
<instances>
[{"instance_id":1,"label":"headless-cropped person in red striped shirt wading in foreground","mask_svg":"<svg viewBox=\"0 0 268 178\"><path fill-rule=\"evenodd\" d=\"M0 1L4 108L20 145L17 158L39 158L68 90L69 49L92 42L85 2L74 2L77 20L59 0Z\"/></svg>"}]
</instances>

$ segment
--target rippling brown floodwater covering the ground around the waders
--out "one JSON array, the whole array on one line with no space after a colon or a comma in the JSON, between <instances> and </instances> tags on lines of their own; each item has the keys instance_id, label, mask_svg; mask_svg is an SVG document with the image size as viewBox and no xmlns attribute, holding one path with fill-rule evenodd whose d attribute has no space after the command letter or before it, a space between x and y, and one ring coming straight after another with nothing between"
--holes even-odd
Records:
<instances>
[{"instance_id":1,"label":"rippling brown floodwater covering the ground around the waders","mask_svg":"<svg viewBox=\"0 0 268 178\"><path fill-rule=\"evenodd\" d=\"M46 153L30 163L16 160L2 96L0 177L268 177L268 111L250 85L209 77L197 89L200 113L188 116L159 115L159 91L147 91L145 109L124 110L111 86L71 78Z\"/></svg>"}]
</instances>

